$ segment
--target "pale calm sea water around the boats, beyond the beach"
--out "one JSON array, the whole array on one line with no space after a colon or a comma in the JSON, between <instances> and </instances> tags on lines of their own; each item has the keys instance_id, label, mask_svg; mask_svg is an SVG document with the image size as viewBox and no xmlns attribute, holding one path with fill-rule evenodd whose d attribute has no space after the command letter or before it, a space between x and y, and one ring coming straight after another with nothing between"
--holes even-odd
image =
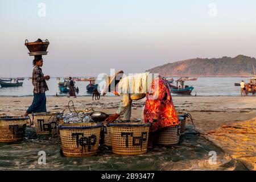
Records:
<instances>
[{"instance_id":1,"label":"pale calm sea water around the boats, beyond the beach","mask_svg":"<svg viewBox=\"0 0 256 182\"><path fill-rule=\"evenodd\" d=\"M191 96L195 96L195 94L197 94L197 96L240 96L240 87L234 86L234 83L240 83L241 80L249 82L248 77L199 77L196 81L186 81L185 85L193 86L195 88L191 93ZM51 78L51 80L47 81L47 84L49 88L49 91L46 92L47 96L55 96L56 93L61 96L68 95L60 93L56 78ZM80 90L79 94L77 94L78 96L90 96L90 94L86 93L86 85L88 84L89 82L76 82L75 86L78 86ZM23 81L23 86L16 88L0 87L0 96L32 95L33 85L27 78Z\"/></svg>"}]
</instances>

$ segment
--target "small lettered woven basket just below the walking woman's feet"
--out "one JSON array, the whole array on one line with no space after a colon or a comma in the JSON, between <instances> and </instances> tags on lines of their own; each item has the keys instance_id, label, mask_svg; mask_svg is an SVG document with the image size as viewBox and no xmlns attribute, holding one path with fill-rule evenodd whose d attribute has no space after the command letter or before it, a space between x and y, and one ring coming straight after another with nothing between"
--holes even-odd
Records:
<instances>
[{"instance_id":1,"label":"small lettered woven basket just below the walking woman's feet","mask_svg":"<svg viewBox=\"0 0 256 182\"><path fill-rule=\"evenodd\" d=\"M47 113L33 113L32 115L34 117L33 123L35 124L36 134L48 135L48 134L52 134L52 131L56 129L57 117L59 115L63 115L63 113L47 112Z\"/></svg>"}]
</instances>

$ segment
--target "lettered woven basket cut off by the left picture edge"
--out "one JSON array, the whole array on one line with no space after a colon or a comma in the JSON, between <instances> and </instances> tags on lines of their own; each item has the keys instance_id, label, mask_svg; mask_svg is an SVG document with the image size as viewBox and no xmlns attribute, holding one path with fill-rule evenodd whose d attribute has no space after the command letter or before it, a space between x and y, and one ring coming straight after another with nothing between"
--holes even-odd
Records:
<instances>
[{"instance_id":1,"label":"lettered woven basket cut off by the left picture edge","mask_svg":"<svg viewBox=\"0 0 256 182\"><path fill-rule=\"evenodd\" d=\"M21 142L29 117L0 117L0 142Z\"/></svg>"}]
</instances>

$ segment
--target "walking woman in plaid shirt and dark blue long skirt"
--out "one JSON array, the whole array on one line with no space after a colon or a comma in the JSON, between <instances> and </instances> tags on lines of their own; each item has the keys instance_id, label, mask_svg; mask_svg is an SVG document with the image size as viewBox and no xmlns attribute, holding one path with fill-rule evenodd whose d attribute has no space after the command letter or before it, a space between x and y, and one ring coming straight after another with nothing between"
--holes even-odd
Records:
<instances>
[{"instance_id":1,"label":"walking woman in plaid shirt and dark blue long skirt","mask_svg":"<svg viewBox=\"0 0 256 182\"><path fill-rule=\"evenodd\" d=\"M31 113L42 113L46 112L46 91L49 90L46 81L50 77L44 76L42 72L43 58L42 56L35 56L33 60L33 73L32 73L32 84L34 86L34 99L32 105L28 107L26 113L23 115L26 117Z\"/></svg>"}]
</instances>

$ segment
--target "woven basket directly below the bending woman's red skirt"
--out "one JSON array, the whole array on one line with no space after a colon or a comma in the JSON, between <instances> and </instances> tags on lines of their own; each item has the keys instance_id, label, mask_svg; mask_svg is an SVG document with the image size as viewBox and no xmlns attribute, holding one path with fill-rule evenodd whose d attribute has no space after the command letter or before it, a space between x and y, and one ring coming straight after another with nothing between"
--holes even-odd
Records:
<instances>
[{"instance_id":1,"label":"woven basket directly below the bending woman's red skirt","mask_svg":"<svg viewBox=\"0 0 256 182\"><path fill-rule=\"evenodd\" d=\"M179 143L180 140L180 127L181 127L181 122L179 125L170 127L166 130L159 131L158 133L158 139L157 143L158 144L163 144L163 145L170 145L170 144L177 144Z\"/></svg>"}]
</instances>

